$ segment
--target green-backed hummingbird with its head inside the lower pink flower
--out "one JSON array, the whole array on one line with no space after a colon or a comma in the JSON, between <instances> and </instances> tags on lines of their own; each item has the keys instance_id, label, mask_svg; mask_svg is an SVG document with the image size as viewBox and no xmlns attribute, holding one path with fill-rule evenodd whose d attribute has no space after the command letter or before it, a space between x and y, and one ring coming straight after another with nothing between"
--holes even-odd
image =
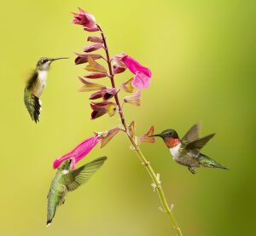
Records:
<instances>
[{"instance_id":1,"label":"green-backed hummingbird with its head inside the lower pink flower","mask_svg":"<svg viewBox=\"0 0 256 236\"><path fill-rule=\"evenodd\" d=\"M48 199L47 226L50 225L57 206L64 204L67 192L77 189L90 179L96 170L106 161L107 157L96 158L76 170L70 170L71 160L63 162L58 168L54 180L51 182Z\"/></svg>"}]
</instances>

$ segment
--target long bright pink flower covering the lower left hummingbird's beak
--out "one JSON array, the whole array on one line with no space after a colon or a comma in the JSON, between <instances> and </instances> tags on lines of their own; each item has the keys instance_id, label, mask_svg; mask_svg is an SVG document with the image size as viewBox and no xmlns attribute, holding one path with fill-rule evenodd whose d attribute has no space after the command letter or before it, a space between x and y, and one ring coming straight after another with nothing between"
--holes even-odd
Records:
<instances>
[{"instance_id":1,"label":"long bright pink flower covering the lower left hummingbird's beak","mask_svg":"<svg viewBox=\"0 0 256 236\"><path fill-rule=\"evenodd\" d=\"M65 154L61 158L56 158L53 163L53 168L56 169L60 166L60 164L63 161L66 161L67 159L72 160L72 169L75 169L75 164L79 162L82 158L84 158L88 153L90 153L90 150L96 146L96 144L101 141L101 137L98 135L95 135L93 137L90 137L83 142L79 144L78 147L75 147L73 151L70 153Z\"/></svg>"}]
</instances>

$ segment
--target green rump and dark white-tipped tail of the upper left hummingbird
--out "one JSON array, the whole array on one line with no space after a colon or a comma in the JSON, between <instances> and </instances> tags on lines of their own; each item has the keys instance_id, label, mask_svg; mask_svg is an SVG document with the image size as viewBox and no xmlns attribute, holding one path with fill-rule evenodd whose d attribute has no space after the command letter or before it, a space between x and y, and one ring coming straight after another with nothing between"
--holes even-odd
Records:
<instances>
[{"instance_id":1,"label":"green rump and dark white-tipped tail of the upper left hummingbird","mask_svg":"<svg viewBox=\"0 0 256 236\"><path fill-rule=\"evenodd\" d=\"M37 123L40 117L40 109L41 109L41 101L40 99L32 95L28 89L24 89L24 103L26 105L26 109L29 112L32 120Z\"/></svg>"}]
</instances>

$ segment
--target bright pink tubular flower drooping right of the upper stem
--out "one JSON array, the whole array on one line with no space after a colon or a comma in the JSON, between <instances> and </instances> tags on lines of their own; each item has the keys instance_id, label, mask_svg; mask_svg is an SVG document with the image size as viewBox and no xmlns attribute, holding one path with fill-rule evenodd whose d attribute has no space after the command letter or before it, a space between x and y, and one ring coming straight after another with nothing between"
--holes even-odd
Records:
<instances>
[{"instance_id":1,"label":"bright pink tubular flower drooping right of the upper stem","mask_svg":"<svg viewBox=\"0 0 256 236\"><path fill-rule=\"evenodd\" d=\"M132 86L137 89L147 89L152 76L150 69L142 66L137 60L129 55L123 56L121 60L125 63L125 66L135 74L135 77L131 82Z\"/></svg>"}]
</instances>

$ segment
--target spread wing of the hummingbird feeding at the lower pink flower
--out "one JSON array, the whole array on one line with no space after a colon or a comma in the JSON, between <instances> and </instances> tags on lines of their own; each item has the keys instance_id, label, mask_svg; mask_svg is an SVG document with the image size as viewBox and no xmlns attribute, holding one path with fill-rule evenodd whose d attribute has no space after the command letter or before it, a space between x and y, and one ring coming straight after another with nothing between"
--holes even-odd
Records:
<instances>
[{"instance_id":1,"label":"spread wing of the hummingbird feeding at the lower pink flower","mask_svg":"<svg viewBox=\"0 0 256 236\"><path fill-rule=\"evenodd\" d=\"M65 175L65 182L68 191L73 191L90 179L96 170L106 161L107 157L96 158L88 164L84 164L77 170L72 170ZM64 176L63 176L64 177Z\"/></svg>"}]
</instances>

